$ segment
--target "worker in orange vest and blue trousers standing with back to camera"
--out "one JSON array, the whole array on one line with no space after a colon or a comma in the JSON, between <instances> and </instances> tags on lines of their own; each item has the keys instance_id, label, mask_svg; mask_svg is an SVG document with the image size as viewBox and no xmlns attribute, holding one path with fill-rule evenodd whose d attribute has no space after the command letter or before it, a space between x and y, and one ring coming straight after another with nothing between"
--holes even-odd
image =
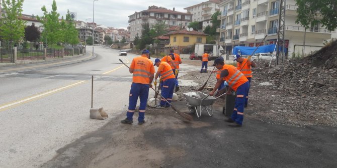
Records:
<instances>
[{"instance_id":1,"label":"worker in orange vest and blue trousers standing with back to camera","mask_svg":"<svg viewBox=\"0 0 337 168\"><path fill-rule=\"evenodd\" d=\"M135 57L131 62L129 72L133 73L132 84L126 118L121 121L123 124L132 124L132 116L136 109L138 97L140 100L138 124L143 124L145 122L144 115L148 98L148 89L149 87L152 87L151 83L155 72L153 63L149 58L150 52L148 50L144 50L141 56Z\"/></svg>"}]
</instances>

